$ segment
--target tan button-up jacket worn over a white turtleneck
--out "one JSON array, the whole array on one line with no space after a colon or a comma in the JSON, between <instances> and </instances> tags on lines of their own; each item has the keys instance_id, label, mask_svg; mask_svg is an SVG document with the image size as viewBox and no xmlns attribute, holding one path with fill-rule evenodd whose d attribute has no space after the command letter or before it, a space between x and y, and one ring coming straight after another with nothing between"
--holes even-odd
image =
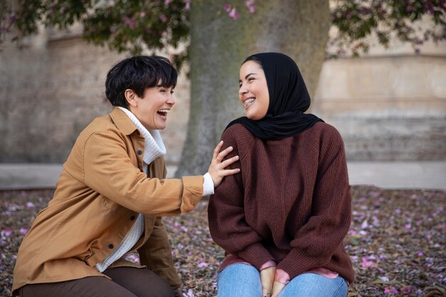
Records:
<instances>
[{"instance_id":1,"label":"tan button-up jacket worn over a white turtleneck","mask_svg":"<svg viewBox=\"0 0 446 297\"><path fill-rule=\"evenodd\" d=\"M180 286L160 216L195 208L203 177L164 179L163 157L143 172L145 141L122 110L93 120L76 140L56 192L22 241L14 267L13 294L28 283L103 276L95 264L118 247L145 214L145 232L135 244L141 264ZM113 266L138 266L125 259Z\"/></svg>"}]
</instances>

